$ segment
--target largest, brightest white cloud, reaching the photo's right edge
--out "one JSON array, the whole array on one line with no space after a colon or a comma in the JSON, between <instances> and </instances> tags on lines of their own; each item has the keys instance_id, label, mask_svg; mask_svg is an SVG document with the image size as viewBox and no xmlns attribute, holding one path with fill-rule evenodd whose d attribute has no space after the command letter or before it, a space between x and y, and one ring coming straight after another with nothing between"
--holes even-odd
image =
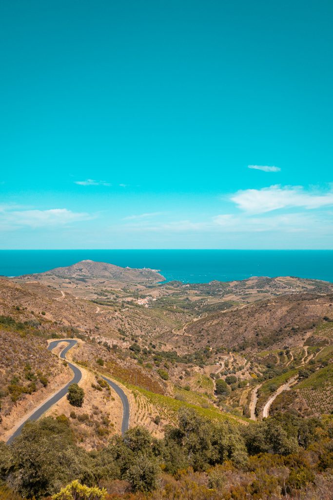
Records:
<instances>
[{"instance_id":1,"label":"largest, brightest white cloud, reaching the photo's right edge","mask_svg":"<svg viewBox=\"0 0 333 500\"><path fill-rule=\"evenodd\" d=\"M333 190L319 192L302 186L272 185L262 189L244 189L230 198L238 208L249 213L264 213L279 208L307 209L333 205Z\"/></svg>"}]
</instances>

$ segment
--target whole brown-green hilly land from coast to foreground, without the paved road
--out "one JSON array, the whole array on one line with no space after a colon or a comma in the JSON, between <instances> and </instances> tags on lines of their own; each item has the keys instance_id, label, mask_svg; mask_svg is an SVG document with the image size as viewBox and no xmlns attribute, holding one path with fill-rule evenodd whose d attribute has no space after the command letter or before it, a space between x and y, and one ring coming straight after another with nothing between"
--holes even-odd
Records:
<instances>
[{"instance_id":1,"label":"whole brown-green hilly land from coast to foreground, without the paved road","mask_svg":"<svg viewBox=\"0 0 333 500\"><path fill-rule=\"evenodd\" d=\"M74 339L67 360L80 371L84 394L79 407L58 399L13 444L0 443L0 498L15 498L7 486L42 498L41 491L85 481L91 471L110 499L130 493L141 500L136 490L157 485L149 477L169 481L166 489L180 498L190 489L195 498L274 493L273 500L283 488L298 491L301 479L329 491L323 471L331 463L331 284L290 277L161 284L142 275L125 283L125 275L90 262L0 279L1 438L71 380L58 357L64 338ZM51 339L60 342L52 353ZM123 438L117 387L130 407ZM290 466L295 460L299 469ZM49 463L61 470L54 484ZM27 470L33 480L21 481ZM40 473L42 485L35 481Z\"/></svg>"}]
</instances>

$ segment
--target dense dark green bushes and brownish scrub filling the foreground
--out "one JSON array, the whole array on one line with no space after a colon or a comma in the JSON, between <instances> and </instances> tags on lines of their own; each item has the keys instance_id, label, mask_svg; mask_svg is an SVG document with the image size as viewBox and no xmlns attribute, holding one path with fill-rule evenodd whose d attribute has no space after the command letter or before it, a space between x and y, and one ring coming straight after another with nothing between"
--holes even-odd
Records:
<instances>
[{"instance_id":1,"label":"dense dark green bushes and brownish scrub filling the foreground","mask_svg":"<svg viewBox=\"0 0 333 500\"><path fill-rule=\"evenodd\" d=\"M182 409L178 426L166 426L163 439L135 427L87 452L76 445L68 419L47 417L26 424L10 446L0 443L0 479L23 497L37 499L56 495L75 479L87 486L70 484L54 496L61 500L85 499L89 492L99 499L99 490L88 488L103 485L117 498L130 488L137 492L133 500L149 491L152 500L277 499L305 487L315 491L322 481L325 500L332 481L318 472L333 468L332 439L332 418L279 414L242 426Z\"/></svg>"}]
</instances>

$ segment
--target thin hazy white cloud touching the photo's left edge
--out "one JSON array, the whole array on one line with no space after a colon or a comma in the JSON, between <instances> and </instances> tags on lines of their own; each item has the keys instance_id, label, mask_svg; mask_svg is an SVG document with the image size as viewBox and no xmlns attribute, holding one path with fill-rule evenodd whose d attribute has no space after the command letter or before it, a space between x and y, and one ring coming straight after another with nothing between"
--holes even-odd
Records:
<instances>
[{"instance_id":1,"label":"thin hazy white cloud touching the photo's left edge","mask_svg":"<svg viewBox=\"0 0 333 500\"><path fill-rule=\"evenodd\" d=\"M93 218L86 212L72 212L67 208L49 210L11 210L1 212L0 221L16 226L43 227L65 225Z\"/></svg>"}]
</instances>

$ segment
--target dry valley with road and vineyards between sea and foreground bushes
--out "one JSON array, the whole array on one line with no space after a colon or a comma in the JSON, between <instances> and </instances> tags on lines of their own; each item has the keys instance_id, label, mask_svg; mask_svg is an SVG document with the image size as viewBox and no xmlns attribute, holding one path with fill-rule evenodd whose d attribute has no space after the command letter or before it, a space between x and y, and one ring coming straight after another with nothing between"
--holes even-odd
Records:
<instances>
[{"instance_id":1,"label":"dry valley with road and vineyards between sea and foreground bushes","mask_svg":"<svg viewBox=\"0 0 333 500\"><path fill-rule=\"evenodd\" d=\"M243 436L281 418L331 418L331 283L183 284L84 261L1 278L0 290L0 432L10 445L43 417L85 453L128 428L166 439L182 412ZM77 407L71 385L84 394Z\"/></svg>"}]
</instances>

